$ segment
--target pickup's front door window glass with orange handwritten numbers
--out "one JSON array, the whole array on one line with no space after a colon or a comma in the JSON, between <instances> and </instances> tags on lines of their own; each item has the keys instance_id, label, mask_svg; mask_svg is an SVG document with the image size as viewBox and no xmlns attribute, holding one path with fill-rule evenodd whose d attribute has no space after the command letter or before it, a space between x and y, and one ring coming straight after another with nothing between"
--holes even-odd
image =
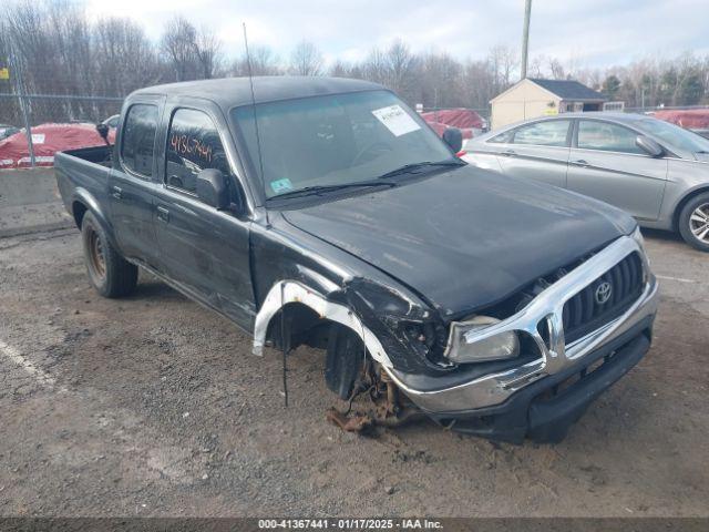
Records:
<instances>
[{"instance_id":1,"label":"pickup's front door window glass with orange handwritten numbers","mask_svg":"<svg viewBox=\"0 0 709 532\"><path fill-rule=\"evenodd\" d=\"M229 175L229 164L214 122L202 111L178 109L167 132L165 183L194 194L197 174L218 168Z\"/></svg>"}]
</instances>

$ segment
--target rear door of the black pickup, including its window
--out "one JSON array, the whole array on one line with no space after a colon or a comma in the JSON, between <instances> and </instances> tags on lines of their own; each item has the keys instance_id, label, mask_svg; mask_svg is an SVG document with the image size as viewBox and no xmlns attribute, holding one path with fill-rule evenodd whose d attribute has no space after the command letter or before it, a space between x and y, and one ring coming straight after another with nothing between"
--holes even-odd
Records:
<instances>
[{"instance_id":1,"label":"rear door of the black pickup, including its window","mask_svg":"<svg viewBox=\"0 0 709 532\"><path fill-rule=\"evenodd\" d=\"M119 163L109 178L111 219L121 253L157 269L153 193L157 165L155 142L162 96L144 96L126 109Z\"/></svg>"}]
</instances>

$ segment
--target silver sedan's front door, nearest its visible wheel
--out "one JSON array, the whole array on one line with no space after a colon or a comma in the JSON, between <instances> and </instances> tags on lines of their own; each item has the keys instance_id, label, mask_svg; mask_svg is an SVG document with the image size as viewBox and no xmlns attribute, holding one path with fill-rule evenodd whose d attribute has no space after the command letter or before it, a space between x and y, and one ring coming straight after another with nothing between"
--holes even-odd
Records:
<instances>
[{"instance_id":1,"label":"silver sedan's front door, nearest its visible wheel","mask_svg":"<svg viewBox=\"0 0 709 532\"><path fill-rule=\"evenodd\" d=\"M659 216L668 161L640 150L638 133L600 119L579 119L568 161L568 188L602 200L638 219Z\"/></svg>"}]
</instances>

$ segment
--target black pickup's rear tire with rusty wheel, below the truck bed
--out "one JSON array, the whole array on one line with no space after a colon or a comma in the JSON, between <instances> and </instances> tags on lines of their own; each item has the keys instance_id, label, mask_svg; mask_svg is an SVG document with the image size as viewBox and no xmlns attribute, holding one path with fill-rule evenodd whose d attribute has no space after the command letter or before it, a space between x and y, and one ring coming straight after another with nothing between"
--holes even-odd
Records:
<instances>
[{"instance_id":1,"label":"black pickup's rear tire with rusty wheel, below the truck bed","mask_svg":"<svg viewBox=\"0 0 709 532\"><path fill-rule=\"evenodd\" d=\"M115 250L91 212L81 222L81 239L89 280L96 291L111 298L131 294L137 285L137 266Z\"/></svg>"}]
</instances>

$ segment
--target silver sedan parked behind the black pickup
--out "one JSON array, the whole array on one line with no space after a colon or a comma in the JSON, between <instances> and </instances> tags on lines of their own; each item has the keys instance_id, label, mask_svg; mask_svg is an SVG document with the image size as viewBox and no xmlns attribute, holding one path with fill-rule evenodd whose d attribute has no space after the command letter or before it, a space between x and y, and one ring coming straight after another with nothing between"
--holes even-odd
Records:
<instances>
[{"instance_id":1,"label":"silver sedan parked behind the black pickup","mask_svg":"<svg viewBox=\"0 0 709 532\"><path fill-rule=\"evenodd\" d=\"M568 113L465 145L465 161L602 200L709 252L709 140L630 113Z\"/></svg>"}]
</instances>

